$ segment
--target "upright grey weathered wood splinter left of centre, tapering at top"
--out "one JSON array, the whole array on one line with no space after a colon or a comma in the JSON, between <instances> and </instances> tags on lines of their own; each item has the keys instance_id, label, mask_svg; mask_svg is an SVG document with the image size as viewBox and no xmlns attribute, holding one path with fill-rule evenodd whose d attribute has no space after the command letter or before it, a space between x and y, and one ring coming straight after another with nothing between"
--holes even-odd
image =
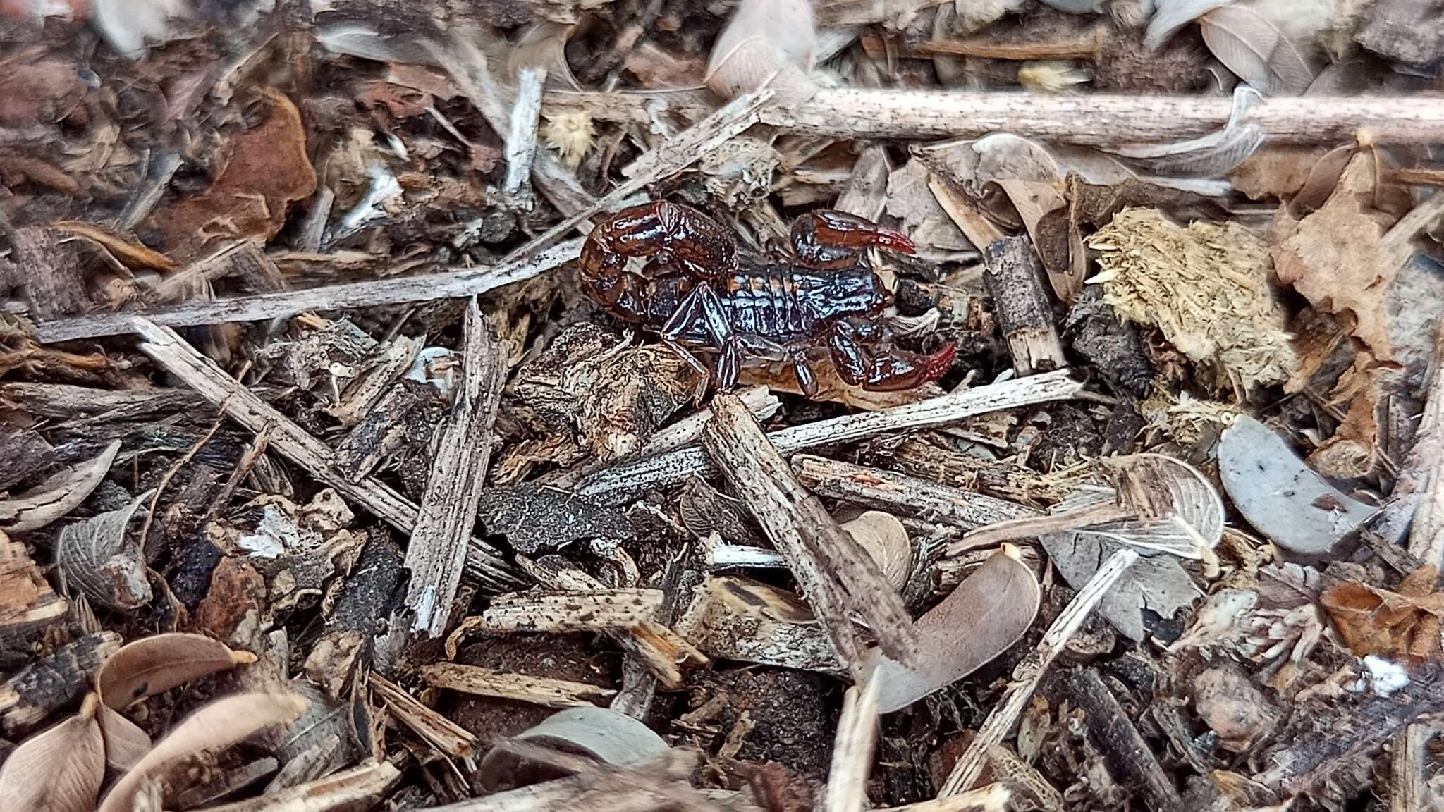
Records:
<instances>
[{"instance_id":1,"label":"upright grey weathered wood splinter left of centre, tapering at top","mask_svg":"<svg viewBox=\"0 0 1444 812\"><path fill-rule=\"evenodd\" d=\"M475 298L466 303L462 334L462 381L451 418L442 426L420 517L406 548L406 568L412 571L406 607L414 613L412 631L426 637L445 631L461 585L491 459L491 428L507 377L505 358Z\"/></svg>"}]
</instances>

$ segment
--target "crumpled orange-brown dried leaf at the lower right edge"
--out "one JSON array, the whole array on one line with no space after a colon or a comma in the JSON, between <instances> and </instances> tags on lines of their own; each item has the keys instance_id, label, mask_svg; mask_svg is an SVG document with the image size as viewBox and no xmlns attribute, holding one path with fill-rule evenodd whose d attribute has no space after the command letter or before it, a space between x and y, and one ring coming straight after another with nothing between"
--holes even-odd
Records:
<instances>
[{"instance_id":1,"label":"crumpled orange-brown dried leaf at the lower right edge","mask_svg":"<svg viewBox=\"0 0 1444 812\"><path fill-rule=\"evenodd\" d=\"M1324 589L1321 602L1344 644L1359 655L1437 659L1444 592L1432 591L1438 569L1421 566L1396 592L1346 581Z\"/></svg>"}]
</instances>

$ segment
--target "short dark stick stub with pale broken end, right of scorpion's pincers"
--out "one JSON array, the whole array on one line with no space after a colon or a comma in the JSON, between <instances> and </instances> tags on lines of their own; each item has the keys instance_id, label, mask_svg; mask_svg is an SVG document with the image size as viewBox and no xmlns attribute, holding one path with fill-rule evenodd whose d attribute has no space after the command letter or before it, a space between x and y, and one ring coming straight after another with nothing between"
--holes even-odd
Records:
<instances>
[{"instance_id":1,"label":"short dark stick stub with pale broken end, right of scorpion's pincers","mask_svg":"<svg viewBox=\"0 0 1444 812\"><path fill-rule=\"evenodd\" d=\"M1043 262L1027 237L1004 237L983 249L983 285L1019 376L1067 366L1053 303L1044 290Z\"/></svg>"}]
</instances>

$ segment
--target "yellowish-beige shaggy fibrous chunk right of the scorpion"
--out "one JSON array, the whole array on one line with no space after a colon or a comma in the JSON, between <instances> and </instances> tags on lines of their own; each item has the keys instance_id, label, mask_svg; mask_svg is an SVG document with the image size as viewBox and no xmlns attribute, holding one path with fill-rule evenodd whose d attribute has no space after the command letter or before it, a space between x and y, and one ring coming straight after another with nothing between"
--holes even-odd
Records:
<instances>
[{"instance_id":1,"label":"yellowish-beige shaggy fibrous chunk right of the scorpion","mask_svg":"<svg viewBox=\"0 0 1444 812\"><path fill-rule=\"evenodd\" d=\"M1157 210L1125 210L1087 240L1103 301L1157 325L1220 386L1288 380L1297 366L1288 314L1268 282L1268 244L1236 223L1174 225Z\"/></svg>"}]
</instances>

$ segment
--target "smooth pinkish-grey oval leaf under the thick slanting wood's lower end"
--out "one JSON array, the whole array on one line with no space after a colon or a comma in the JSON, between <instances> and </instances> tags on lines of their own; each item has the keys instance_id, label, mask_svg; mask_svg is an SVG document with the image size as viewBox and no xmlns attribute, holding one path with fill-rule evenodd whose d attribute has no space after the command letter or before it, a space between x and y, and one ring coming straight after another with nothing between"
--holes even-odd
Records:
<instances>
[{"instance_id":1,"label":"smooth pinkish-grey oval leaf under the thick slanting wood's lower end","mask_svg":"<svg viewBox=\"0 0 1444 812\"><path fill-rule=\"evenodd\" d=\"M869 649L869 681L881 682L888 714L946 688L1004 653L1032 624L1041 591L1018 550L1004 545L940 604L917 620L917 666Z\"/></svg>"}]
</instances>

